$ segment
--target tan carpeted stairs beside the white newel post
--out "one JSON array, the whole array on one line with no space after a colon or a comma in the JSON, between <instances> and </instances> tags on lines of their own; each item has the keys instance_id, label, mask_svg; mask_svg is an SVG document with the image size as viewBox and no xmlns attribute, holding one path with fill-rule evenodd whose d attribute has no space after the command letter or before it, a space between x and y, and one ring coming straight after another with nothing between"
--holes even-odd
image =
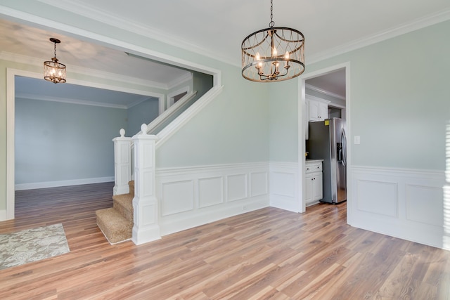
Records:
<instances>
[{"instance_id":1,"label":"tan carpeted stairs beside the white newel post","mask_svg":"<svg viewBox=\"0 0 450 300\"><path fill-rule=\"evenodd\" d=\"M129 193L113 196L113 207L96 211L97 225L110 244L130 240L133 232L134 181Z\"/></svg>"}]
</instances>

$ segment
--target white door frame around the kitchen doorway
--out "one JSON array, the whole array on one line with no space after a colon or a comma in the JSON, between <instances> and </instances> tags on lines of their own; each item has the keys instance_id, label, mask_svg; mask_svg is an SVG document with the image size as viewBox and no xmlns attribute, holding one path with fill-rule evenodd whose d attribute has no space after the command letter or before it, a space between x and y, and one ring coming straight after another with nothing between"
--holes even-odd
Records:
<instances>
[{"instance_id":1,"label":"white door frame around the kitchen doorway","mask_svg":"<svg viewBox=\"0 0 450 300\"><path fill-rule=\"evenodd\" d=\"M302 201L300 206L300 212L306 211L306 202L305 202L305 180L304 180L304 168L306 163L306 157L304 155L305 152L305 143L304 143L304 132L306 130L305 119L307 117L306 114L306 81L307 79L311 79L314 77L319 77L321 75L328 74L330 72L334 72L340 69L345 69L345 114L346 114L346 123L347 123L347 203L352 202L352 195L350 191L352 190L352 178L351 172L349 171L352 168L352 143L350 143L351 139L351 95L350 95L350 63L340 63L338 65L332 65L330 67L326 67L320 70L307 72L302 74L299 78L299 97L298 97L298 174L299 174L299 193L298 195L302 195ZM352 205L347 204L347 223L351 224L352 222Z\"/></svg>"}]
</instances>

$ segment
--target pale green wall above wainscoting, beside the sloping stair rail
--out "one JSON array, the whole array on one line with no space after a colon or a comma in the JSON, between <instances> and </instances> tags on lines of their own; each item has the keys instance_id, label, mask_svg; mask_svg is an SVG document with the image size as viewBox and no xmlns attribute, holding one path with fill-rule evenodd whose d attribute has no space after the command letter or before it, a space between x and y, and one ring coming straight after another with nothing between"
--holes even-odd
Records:
<instances>
[{"instance_id":1,"label":"pale green wall above wainscoting, beside the sloping stair rail","mask_svg":"<svg viewBox=\"0 0 450 300\"><path fill-rule=\"evenodd\" d=\"M223 91L158 148L158 167L269 160L269 86L243 79L239 67L216 67Z\"/></svg>"}]
</instances>

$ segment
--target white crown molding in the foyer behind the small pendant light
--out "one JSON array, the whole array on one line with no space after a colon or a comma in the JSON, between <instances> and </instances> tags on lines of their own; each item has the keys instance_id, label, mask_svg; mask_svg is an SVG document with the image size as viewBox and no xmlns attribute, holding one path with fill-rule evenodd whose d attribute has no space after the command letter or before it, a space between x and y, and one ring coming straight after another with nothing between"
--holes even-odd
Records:
<instances>
[{"instance_id":1,"label":"white crown molding in the foyer behind the small pendant light","mask_svg":"<svg viewBox=\"0 0 450 300\"><path fill-rule=\"evenodd\" d=\"M41 65L43 63L43 60L41 60L39 58L34 58L31 56L23 56L20 54L6 52L6 51L0 52L0 60L8 60L8 61L12 61L15 63L25 63L27 65L35 65L37 67L41 67ZM149 87L155 88L155 89L165 89L165 90L169 89L167 84L161 84L160 82L155 82L155 81L150 81L150 80L145 80L145 79L140 79L140 78L134 78L134 77L128 77L128 76L124 76L124 75L120 75L120 74L104 72L104 71L99 71L99 70L94 70L94 69L89 69L87 67L79 67L77 65L69 65L67 72L68 72L68 74L77 73L77 74L82 74L82 75L87 75L87 76L92 76L92 77L98 77L98 78L102 78L102 79L120 81L120 82L124 82L127 84L138 84L141 86L149 86ZM70 79L68 79L68 80L70 80ZM180 80L184 80L184 77L180 77Z\"/></svg>"}]
</instances>

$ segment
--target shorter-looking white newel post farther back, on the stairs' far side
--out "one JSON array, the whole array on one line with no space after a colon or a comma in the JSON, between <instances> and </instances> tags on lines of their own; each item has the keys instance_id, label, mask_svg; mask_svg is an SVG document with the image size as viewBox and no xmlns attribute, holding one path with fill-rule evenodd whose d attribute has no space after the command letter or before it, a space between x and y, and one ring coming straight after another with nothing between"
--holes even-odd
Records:
<instances>
[{"instance_id":1,"label":"shorter-looking white newel post farther back, on the stairs' far side","mask_svg":"<svg viewBox=\"0 0 450 300\"><path fill-rule=\"evenodd\" d=\"M114 195L128 194L128 182L131 180L131 138L125 137L125 130L120 129L120 137L114 142Z\"/></svg>"}]
</instances>

